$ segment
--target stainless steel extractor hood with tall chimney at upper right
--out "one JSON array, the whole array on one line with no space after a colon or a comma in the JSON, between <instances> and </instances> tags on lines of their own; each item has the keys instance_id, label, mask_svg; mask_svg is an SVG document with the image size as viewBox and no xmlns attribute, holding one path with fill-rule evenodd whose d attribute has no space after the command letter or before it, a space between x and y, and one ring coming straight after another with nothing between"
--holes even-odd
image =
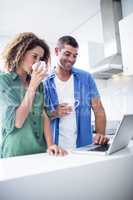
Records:
<instances>
[{"instance_id":1,"label":"stainless steel extractor hood with tall chimney at upper right","mask_svg":"<svg viewBox=\"0 0 133 200\"><path fill-rule=\"evenodd\" d=\"M122 18L120 0L101 0L105 58L92 66L90 72L95 78L108 79L123 71L119 36L119 20Z\"/></svg>"}]
</instances>

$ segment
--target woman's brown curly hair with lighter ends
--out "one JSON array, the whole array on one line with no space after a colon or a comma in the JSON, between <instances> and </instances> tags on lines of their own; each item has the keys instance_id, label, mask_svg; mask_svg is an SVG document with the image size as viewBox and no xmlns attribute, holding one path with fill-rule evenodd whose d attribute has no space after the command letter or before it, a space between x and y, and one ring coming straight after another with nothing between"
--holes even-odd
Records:
<instances>
[{"instance_id":1,"label":"woman's brown curly hair with lighter ends","mask_svg":"<svg viewBox=\"0 0 133 200\"><path fill-rule=\"evenodd\" d=\"M47 43L38 38L34 33L24 32L18 34L3 51L5 67L8 71L14 71L22 62L27 51L40 46L44 50L42 60L48 63L50 59L50 49Z\"/></svg>"}]
</instances>

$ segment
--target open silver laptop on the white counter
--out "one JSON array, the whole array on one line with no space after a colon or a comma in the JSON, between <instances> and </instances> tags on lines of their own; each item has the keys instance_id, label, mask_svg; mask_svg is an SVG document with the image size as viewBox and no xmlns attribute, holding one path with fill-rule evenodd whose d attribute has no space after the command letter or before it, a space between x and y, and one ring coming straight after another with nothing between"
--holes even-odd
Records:
<instances>
[{"instance_id":1,"label":"open silver laptop on the white counter","mask_svg":"<svg viewBox=\"0 0 133 200\"><path fill-rule=\"evenodd\" d=\"M95 152L101 155L110 155L121 149L124 149L130 139L133 137L133 114L126 114L123 116L110 144L96 145L90 144L72 150L74 153Z\"/></svg>"}]
</instances>

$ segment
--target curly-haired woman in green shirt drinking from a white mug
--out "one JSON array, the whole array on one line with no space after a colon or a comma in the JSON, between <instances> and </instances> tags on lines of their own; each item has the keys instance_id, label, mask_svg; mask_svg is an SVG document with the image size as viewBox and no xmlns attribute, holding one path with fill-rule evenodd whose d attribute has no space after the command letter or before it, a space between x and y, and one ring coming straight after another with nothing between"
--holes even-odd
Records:
<instances>
[{"instance_id":1,"label":"curly-haired woman in green shirt drinking from a white mug","mask_svg":"<svg viewBox=\"0 0 133 200\"><path fill-rule=\"evenodd\" d=\"M1 158L46 152L47 146L49 153L64 155L65 151L52 143L43 109L41 82L48 70L48 45L33 33L21 33L3 55L6 71L0 73ZM45 61L46 68L32 70L39 61Z\"/></svg>"}]
</instances>

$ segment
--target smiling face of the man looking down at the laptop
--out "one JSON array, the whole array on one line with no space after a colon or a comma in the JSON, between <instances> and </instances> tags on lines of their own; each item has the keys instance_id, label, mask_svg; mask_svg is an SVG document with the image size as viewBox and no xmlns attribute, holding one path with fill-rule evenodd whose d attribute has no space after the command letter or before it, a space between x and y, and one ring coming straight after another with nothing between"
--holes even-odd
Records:
<instances>
[{"instance_id":1,"label":"smiling face of the man looking down at the laptop","mask_svg":"<svg viewBox=\"0 0 133 200\"><path fill-rule=\"evenodd\" d=\"M56 48L55 53L58 57L58 65L64 70L70 71L76 62L78 48L65 44L63 48Z\"/></svg>"}]
</instances>

